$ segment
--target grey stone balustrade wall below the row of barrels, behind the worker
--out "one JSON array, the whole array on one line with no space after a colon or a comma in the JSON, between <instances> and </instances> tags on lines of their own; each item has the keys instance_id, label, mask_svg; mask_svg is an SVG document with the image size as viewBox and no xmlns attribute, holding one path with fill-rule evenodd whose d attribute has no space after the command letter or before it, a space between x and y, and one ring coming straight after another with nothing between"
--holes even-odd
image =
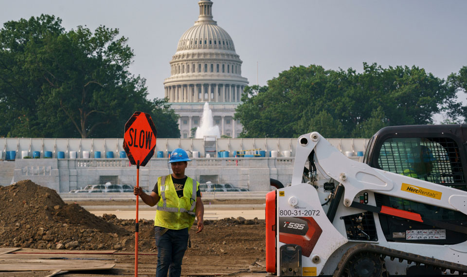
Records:
<instances>
[{"instance_id":1,"label":"grey stone balustrade wall below the row of barrels, behind the worker","mask_svg":"<svg viewBox=\"0 0 467 277\"><path fill-rule=\"evenodd\" d=\"M362 161L362 157L351 157ZM294 157L288 158L198 158L188 164L185 174L200 183L211 178L212 183L230 183L250 191L271 189L269 178L284 185L290 184ZM136 185L136 166L127 159L18 159L2 162L14 165L13 178L0 179L0 185L10 185L20 180L32 180L57 192L66 193L87 185L102 184L103 178L113 178L113 184ZM6 168L6 166L2 166ZM157 178L171 173L167 159L152 159L140 167L140 186L152 190ZM5 173L6 174L6 173ZM10 182L11 180L11 182Z\"/></svg>"}]
</instances>

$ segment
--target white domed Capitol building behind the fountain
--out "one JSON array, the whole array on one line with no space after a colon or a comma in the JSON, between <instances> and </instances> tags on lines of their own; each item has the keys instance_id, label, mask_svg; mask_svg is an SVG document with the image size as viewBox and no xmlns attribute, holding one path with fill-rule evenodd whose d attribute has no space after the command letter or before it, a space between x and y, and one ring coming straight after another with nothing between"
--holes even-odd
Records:
<instances>
[{"instance_id":1,"label":"white domed Capitol building behind the fountain","mask_svg":"<svg viewBox=\"0 0 467 277\"><path fill-rule=\"evenodd\" d=\"M164 80L165 97L180 115L180 137L192 137L200 125L204 102L209 102L214 124L221 135L238 137L242 125L234 120L235 108L248 80L242 77L242 61L234 41L213 20L210 0L200 0L199 17L179 40L170 61L171 74Z\"/></svg>"}]
</instances>

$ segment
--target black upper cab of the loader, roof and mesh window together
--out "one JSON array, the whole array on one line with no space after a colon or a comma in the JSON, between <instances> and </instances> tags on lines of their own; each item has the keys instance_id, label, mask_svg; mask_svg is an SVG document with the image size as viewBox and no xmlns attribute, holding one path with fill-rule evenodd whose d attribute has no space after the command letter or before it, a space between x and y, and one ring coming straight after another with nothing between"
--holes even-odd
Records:
<instances>
[{"instance_id":1,"label":"black upper cab of the loader, roof and mesh window together","mask_svg":"<svg viewBox=\"0 0 467 277\"><path fill-rule=\"evenodd\" d=\"M414 125L380 129L364 163L431 183L467 190L467 125Z\"/></svg>"}]
</instances>

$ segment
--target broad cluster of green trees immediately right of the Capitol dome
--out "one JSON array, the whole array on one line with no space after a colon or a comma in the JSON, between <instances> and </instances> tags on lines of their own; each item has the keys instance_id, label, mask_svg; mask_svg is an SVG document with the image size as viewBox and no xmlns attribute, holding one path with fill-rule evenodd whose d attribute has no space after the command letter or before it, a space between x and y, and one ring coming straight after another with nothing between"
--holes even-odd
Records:
<instances>
[{"instance_id":1,"label":"broad cluster of green trees immediately right of the Capitol dome","mask_svg":"<svg viewBox=\"0 0 467 277\"><path fill-rule=\"evenodd\" d=\"M363 72L291 67L264 87L246 87L235 118L243 137L370 137L393 125L431 124L455 98L443 79L416 66L382 68L363 63Z\"/></svg>"}]
</instances>

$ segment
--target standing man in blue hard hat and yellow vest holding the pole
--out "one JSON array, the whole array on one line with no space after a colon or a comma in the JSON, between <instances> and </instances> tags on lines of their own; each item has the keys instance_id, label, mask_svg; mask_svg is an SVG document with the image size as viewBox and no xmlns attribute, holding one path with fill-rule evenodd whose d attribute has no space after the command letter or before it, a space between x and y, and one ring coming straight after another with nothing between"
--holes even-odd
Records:
<instances>
[{"instance_id":1,"label":"standing man in blue hard hat and yellow vest holding the pole","mask_svg":"<svg viewBox=\"0 0 467 277\"><path fill-rule=\"evenodd\" d=\"M157 277L180 277L181 261L185 254L188 231L198 221L197 234L204 228L204 206L199 192L199 183L185 176L188 165L185 150L177 148L170 154L172 174L157 179L151 194L135 187L133 193L139 195L149 206L157 205L154 219L154 232L157 246Z\"/></svg>"}]
</instances>

